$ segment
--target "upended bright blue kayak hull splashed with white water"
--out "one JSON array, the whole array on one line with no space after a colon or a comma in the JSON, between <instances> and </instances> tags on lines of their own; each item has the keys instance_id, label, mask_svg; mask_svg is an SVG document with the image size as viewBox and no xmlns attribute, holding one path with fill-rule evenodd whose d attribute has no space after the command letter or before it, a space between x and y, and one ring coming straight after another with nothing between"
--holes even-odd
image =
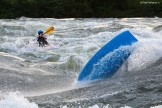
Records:
<instances>
[{"instance_id":1,"label":"upended bright blue kayak hull splashed with white water","mask_svg":"<svg viewBox=\"0 0 162 108\"><path fill-rule=\"evenodd\" d=\"M111 77L131 54L131 45L138 40L124 31L103 46L83 67L78 81Z\"/></svg>"}]
</instances>

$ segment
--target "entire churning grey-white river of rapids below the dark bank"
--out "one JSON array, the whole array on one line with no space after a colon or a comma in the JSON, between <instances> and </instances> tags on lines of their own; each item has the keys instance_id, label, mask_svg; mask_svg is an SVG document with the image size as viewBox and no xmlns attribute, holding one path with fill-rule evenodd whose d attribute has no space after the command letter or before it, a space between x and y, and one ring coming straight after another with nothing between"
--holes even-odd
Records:
<instances>
[{"instance_id":1,"label":"entire churning grey-white river of rapids below the dark bank","mask_svg":"<svg viewBox=\"0 0 162 108\"><path fill-rule=\"evenodd\" d=\"M37 31L54 26L50 46ZM77 82L108 41L129 30L138 42L107 80ZM0 108L156 108L162 105L162 19L0 20Z\"/></svg>"}]
</instances>

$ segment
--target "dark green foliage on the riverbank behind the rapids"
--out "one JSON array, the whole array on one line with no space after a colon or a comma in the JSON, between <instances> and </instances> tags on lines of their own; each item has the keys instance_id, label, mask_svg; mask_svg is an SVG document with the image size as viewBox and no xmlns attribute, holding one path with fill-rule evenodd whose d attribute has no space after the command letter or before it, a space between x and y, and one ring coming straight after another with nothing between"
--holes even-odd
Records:
<instances>
[{"instance_id":1,"label":"dark green foliage on the riverbank behind the rapids","mask_svg":"<svg viewBox=\"0 0 162 108\"><path fill-rule=\"evenodd\" d=\"M0 18L162 16L162 0L0 0Z\"/></svg>"}]
</instances>

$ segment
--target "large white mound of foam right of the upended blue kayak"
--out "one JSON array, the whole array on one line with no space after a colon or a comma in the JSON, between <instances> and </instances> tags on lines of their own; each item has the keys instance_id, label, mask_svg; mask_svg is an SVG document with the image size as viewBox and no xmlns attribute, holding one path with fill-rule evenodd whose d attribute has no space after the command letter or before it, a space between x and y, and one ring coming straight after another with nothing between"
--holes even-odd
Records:
<instances>
[{"instance_id":1,"label":"large white mound of foam right of the upended blue kayak","mask_svg":"<svg viewBox=\"0 0 162 108\"><path fill-rule=\"evenodd\" d=\"M128 59L128 70L144 69L162 57L162 40L143 39L134 44L134 51Z\"/></svg>"}]
</instances>

